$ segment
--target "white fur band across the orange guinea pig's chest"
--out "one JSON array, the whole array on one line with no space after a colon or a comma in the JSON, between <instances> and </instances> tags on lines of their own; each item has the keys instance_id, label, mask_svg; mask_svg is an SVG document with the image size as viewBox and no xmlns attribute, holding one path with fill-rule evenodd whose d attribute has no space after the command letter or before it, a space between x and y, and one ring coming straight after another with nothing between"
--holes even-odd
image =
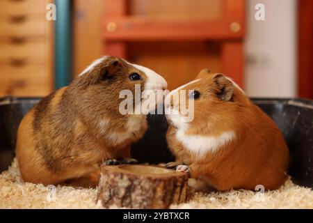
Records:
<instances>
[{"instance_id":1,"label":"white fur band across the orange guinea pig's chest","mask_svg":"<svg viewBox=\"0 0 313 223\"><path fill-rule=\"evenodd\" d=\"M188 135L184 130L177 130L177 139L182 142L183 146L189 151L192 151L198 157L203 157L206 153L214 153L219 148L232 141L235 137L233 131L223 132L222 134L214 137L206 137L202 135Z\"/></svg>"}]
</instances>

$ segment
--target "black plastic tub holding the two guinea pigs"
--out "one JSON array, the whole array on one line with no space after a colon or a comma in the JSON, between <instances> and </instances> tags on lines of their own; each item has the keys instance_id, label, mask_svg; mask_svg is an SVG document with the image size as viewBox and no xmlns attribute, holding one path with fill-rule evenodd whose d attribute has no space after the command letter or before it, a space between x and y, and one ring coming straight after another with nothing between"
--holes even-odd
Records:
<instances>
[{"instance_id":1,"label":"black plastic tub holding the two guinea pigs","mask_svg":"<svg viewBox=\"0 0 313 223\"><path fill-rule=\"evenodd\" d=\"M14 157L16 132L26 112L40 98L0 98L0 172ZM313 188L313 101L298 98L252 98L284 134L291 154L289 174L294 183ZM132 156L141 162L174 160L166 146L168 128L162 115L148 116L145 137L134 144Z\"/></svg>"}]
</instances>

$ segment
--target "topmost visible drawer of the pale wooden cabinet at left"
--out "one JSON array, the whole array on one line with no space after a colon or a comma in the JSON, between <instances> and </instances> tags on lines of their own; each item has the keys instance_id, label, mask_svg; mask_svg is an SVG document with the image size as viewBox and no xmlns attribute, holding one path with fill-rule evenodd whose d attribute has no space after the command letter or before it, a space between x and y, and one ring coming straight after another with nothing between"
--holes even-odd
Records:
<instances>
[{"instance_id":1,"label":"topmost visible drawer of the pale wooden cabinet at left","mask_svg":"<svg viewBox=\"0 0 313 223\"><path fill-rule=\"evenodd\" d=\"M47 3L47 0L0 0L0 16L46 13Z\"/></svg>"}]
</instances>

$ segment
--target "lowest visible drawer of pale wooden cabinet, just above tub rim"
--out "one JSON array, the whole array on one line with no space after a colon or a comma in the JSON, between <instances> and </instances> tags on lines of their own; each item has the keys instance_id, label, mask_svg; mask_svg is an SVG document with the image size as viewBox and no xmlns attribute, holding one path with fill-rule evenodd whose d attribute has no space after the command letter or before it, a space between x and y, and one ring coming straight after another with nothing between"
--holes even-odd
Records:
<instances>
[{"instance_id":1,"label":"lowest visible drawer of pale wooden cabinet, just above tub rim","mask_svg":"<svg viewBox=\"0 0 313 223\"><path fill-rule=\"evenodd\" d=\"M0 96L42 96L51 87L51 75L45 65L0 65Z\"/></svg>"}]
</instances>

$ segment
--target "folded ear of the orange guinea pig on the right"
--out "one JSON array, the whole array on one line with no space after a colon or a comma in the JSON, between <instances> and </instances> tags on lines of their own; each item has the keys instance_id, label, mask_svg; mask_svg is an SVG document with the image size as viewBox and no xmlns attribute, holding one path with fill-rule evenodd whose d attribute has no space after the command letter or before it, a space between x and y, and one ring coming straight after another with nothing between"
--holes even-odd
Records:
<instances>
[{"instance_id":1,"label":"folded ear of the orange guinea pig on the right","mask_svg":"<svg viewBox=\"0 0 313 223\"><path fill-rule=\"evenodd\" d=\"M234 94L234 84L222 74L216 74L213 77L213 82L218 87L218 98L225 101L230 101Z\"/></svg>"}]
</instances>

